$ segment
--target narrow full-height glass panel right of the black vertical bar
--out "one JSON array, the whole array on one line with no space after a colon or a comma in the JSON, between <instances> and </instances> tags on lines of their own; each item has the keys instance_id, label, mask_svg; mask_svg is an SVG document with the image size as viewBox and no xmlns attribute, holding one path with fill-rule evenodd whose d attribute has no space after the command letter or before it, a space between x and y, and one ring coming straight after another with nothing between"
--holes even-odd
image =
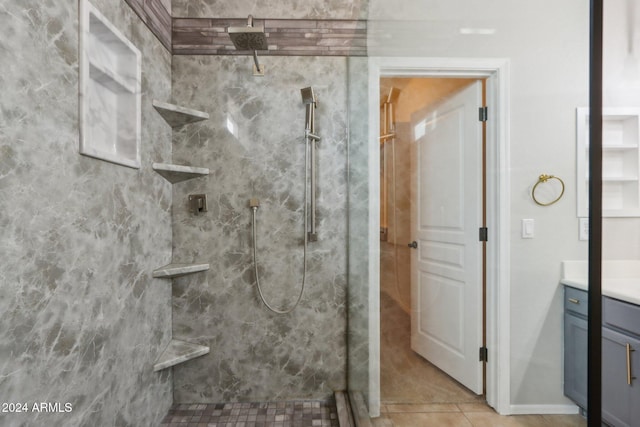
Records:
<instances>
[{"instance_id":1,"label":"narrow full-height glass panel right of the black vertical bar","mask_svg":"<svg viewBox=\"0 0 640 427\"><path fill-rule=\"evenodd\" d=\"M640 4L604 2L602 420L640 419ZM622 286L621 281L629 286Z\"/></svg>"}]
</instances>

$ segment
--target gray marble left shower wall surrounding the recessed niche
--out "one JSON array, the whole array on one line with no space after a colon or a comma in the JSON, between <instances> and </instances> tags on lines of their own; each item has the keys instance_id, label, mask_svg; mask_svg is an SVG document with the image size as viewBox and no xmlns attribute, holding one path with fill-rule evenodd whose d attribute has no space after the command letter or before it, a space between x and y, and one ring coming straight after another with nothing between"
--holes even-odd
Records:
<instances>
[{"instance_id":1,"label":"gray marble left shower wall surrounding the recessed niche","mask_svg":"<svg viewBox=\"0 0 640 427\"><path fill-rule=\"evenodd\" d=\"M78 1L0 0L0 401L29 410L2 426L156 425L172 402L152 370L170 284L151 278L171 259L171 188L151 169L171 158L151 106L171 57L125 2L92 3L142 52L139 170L78 154Z\"/></svg>"}]
</instances>

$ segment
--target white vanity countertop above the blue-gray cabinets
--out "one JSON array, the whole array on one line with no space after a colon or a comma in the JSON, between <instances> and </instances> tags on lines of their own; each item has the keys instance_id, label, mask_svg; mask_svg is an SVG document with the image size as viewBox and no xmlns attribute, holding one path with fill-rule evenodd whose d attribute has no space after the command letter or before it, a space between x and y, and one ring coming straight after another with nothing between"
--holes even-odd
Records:
<instances>
[{"instance_id":1,"label":"white vanity countertop above the blue-gray cabinets","mask_svg":"<svg viewBox=\"0 0 640 427\"><path fill-rule=\"evenodd\" d=\"M563 261L560 283L588 290L587 261ZM602 262L602 295L640 305L640 261Z\"/></svg>"}]
</instances>

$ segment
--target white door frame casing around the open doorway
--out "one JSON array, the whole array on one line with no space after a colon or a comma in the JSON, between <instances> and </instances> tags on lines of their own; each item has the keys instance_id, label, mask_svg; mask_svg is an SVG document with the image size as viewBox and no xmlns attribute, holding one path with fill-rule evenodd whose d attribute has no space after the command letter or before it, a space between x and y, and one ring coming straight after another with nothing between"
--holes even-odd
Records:
<instances>
[{"instance_id":1,"label":"white door frame casing around the open doorway","mask_svg":"<svg viewBox=\"0 0 640 427\"><path fill-rule=\"evenodd\" d=\"M487 79L486 330L487 403L511 413L509 292L509 60L505 58L369 58L369 413L380 415L380 129L381 77ZM499 369L498 369L499 368Z\"/></svg>"}]
</instances>

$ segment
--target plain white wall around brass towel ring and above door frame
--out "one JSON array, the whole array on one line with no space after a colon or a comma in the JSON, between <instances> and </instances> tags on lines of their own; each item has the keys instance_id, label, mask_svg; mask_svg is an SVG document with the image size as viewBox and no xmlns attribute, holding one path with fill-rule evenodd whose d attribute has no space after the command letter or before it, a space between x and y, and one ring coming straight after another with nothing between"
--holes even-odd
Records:
<instances>
[{"instance_id":1,"label":"plain white wall around brass towel ring and above door frame","mask_svg":"<svg viewBox=\"0 0 640 427\"><path fill-rule=\"evenodd\" d=\"M511 187L511 404L516 411L566 405L562 392L560 262L585 259L578 241L575 108L588 102L587 0L372 0L370 56L508 58ZM461 28L494 29L462 35ZM553 206L536 205L538 175L567 185ZM520 220L536 222L520 238ZM536 409L537 408L537 409Z\"/></svg>"}]
</instances>

